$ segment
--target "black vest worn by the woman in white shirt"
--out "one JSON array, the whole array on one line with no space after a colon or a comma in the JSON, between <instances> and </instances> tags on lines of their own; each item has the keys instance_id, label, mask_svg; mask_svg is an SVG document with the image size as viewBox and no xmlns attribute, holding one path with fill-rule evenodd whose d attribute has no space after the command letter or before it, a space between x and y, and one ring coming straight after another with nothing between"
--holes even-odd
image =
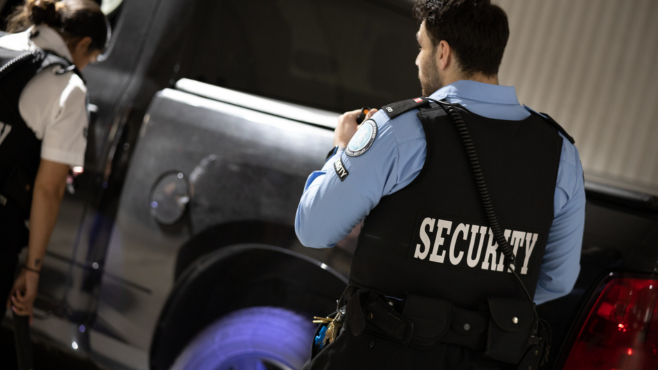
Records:
<instances>
[{"instance_id":1,"label":"black vest worn by the woman in white shirt","mask_svg":"<svg viewBox=\"0 0 660 370\"><path fill-rule=\"evenodd\" d=\"M73 71L82 78L74 65L51 51L0 48L0 194L14 202L24 218L30 215L41 140L21 117L18 103L27 83L53 65L63 67L57 74Z\"/></svg>"}]
</instances>

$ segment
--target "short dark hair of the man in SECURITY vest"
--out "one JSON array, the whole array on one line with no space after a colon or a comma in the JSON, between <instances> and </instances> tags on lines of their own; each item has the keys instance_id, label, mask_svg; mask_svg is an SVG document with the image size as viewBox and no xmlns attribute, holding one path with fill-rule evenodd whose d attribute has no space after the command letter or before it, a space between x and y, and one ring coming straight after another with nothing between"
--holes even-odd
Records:
<instances>
[{"instance_id":1,"label":"short dark hair of the man in SECURITY vest","mask_svg":"<svg viewBox=\"0 0 660 370\"><path fill-rule=\"evenodd\" d=\"M497 74L509 40L502 8L490 0L417 0L413 14L425 22L434 48L442 40L451 46L466 76Z\"/></svg>"}]
</instances>

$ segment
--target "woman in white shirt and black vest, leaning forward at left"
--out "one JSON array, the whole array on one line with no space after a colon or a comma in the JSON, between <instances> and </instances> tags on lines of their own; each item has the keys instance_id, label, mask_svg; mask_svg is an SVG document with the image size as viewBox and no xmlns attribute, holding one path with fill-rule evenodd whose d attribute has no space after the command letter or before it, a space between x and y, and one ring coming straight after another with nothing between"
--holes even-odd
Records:
<instances>
[{"instance_id":1,"label":"woman in white shirt and black vest, leaning forward at left","mask_svg":"<svg viewBox=\"0 0 660 370\"><path fill-rule=\"evenodd\" d=\"M31 320L67 175L84 164L81 71L105 50L110 32L91 0L27 0L8 31L0 37L0 296Z\"/></svg>"}]
</instances>

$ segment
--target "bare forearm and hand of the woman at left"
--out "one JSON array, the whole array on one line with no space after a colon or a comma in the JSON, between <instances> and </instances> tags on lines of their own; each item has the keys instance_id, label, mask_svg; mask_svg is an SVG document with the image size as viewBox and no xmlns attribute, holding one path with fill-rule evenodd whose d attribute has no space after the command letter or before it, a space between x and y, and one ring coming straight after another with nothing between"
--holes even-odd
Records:
<instances>
[{"instance_id":1,"label":"bare forearm and hand of the woman at left","mask_svg":"<svg viewBox=\"0 0 660 370\"><path fill-rule=\"evenodd\" d=\"M50 235L55 227L69 165L42 159L34 183L32 209L30 211L30 240L27 268L16 278L11 305L16 313L32 316L32 305L37 297L39 274ZM35 270L35 271L32 271ZM9 304L9 302L8 302Z\"/></svg>"}]
</instances>

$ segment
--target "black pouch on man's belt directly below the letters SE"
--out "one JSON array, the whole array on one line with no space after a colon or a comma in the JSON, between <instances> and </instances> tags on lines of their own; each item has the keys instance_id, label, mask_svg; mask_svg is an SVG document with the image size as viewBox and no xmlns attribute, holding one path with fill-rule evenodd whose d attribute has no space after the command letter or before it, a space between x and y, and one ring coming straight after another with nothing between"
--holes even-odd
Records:
<instances>
[{"instance_id":1,"label":"black pouch on man's belt directly below the letters SE","mask_svg":"<svg viewBox=\"0 0 660 370\"><path fill-rule=\"evenodd\" d=\"M410 343L415 347L431 347L447 332L452 315L452 302L408 294L403 315L412 322Z\"/></svg>"}]
</instances>

